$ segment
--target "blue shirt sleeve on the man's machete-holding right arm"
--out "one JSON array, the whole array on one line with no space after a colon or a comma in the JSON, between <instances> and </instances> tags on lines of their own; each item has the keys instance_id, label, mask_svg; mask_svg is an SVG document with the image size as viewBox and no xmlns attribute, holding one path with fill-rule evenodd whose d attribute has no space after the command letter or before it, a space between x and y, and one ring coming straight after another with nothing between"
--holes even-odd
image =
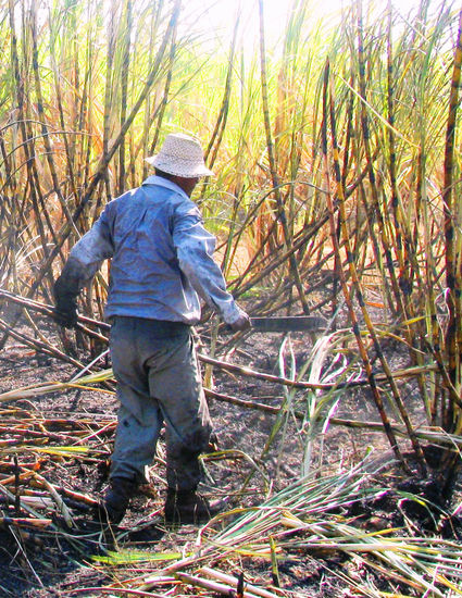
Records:
<instances>
[{"instance_id":1,"label":"blue shirt sleeve on the man's machete-holding right arm","mask_svg":"<svg viewBox=\"0 0 462 598\"><path fill-rule=\"evenodd\" d=\"M204 228L196 207L174 215L173 242L179 267L196 292L227 324L234 324L242 312L226 290L222 271L213 260L215 237Z\"/></svg>"}]
</instances>

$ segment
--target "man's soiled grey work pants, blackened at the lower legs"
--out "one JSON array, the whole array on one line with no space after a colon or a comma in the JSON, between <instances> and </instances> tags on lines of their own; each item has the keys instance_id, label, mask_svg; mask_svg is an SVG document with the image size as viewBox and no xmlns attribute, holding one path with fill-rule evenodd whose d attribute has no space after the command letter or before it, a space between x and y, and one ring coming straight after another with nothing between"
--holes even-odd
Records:
<instances>
[{"instance_id":1,"label":"man's soiled grey work pants, blackened at the lower legs","mask_svg":"<svg viewBox=\"0 0 462 598\"><path fill-rule=\"evenodd\" d=\"M110 347L121 403L110 477L146 481L165 423L167 485L196 488L211 422L190 327L116 316Z\"/></svg>"}]
</instances>

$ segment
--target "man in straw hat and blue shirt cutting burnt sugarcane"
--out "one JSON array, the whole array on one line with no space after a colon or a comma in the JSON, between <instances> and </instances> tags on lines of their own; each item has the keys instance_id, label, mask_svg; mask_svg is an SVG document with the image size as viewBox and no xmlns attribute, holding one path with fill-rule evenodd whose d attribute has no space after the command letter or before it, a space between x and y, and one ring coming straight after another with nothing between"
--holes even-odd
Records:
<instances>
[{"instance_id":1,"label":"man in straw hat and blue shirt cutting burnt sugarcane","mask_svg":"<svg viewBox=\"0 0 462 598\"><path fill-rule=\"evenodd\" d=\"M191 336L200 319L198 295L235 331L248 328L250 320L226 291L212 259L215 238L189 199L199 177L212 174L199 142L168 135L147 161L155 175L109 202L72 249L54 285L57 319L75 324L79 291L110 258L105 316L120 407L102 513L111 523L122 520L138 485L147 482L165 422L164 515L168 522L196 522L209 513L197 487L199 454L211 432Z\"/></svg>"}]
</instances>

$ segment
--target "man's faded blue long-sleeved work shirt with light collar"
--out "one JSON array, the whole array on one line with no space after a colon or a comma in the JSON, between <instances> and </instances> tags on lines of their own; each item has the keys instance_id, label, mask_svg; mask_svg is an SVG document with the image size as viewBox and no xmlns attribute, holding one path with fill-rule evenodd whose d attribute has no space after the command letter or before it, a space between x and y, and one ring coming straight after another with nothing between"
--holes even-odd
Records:
<instances>
[{"instance_id":1,"label":"man's faded blue long-sleeved work shirt with light collar","mask_svg":"<svg viewBox=\"0 0 462 598\"><path fill-rule=\"evenodd\" d=\"M241 310L212 254L215 237L174 183L150 176L110 201L74 246L62 276L83 288L111 258L107 317L133 315L197 324L198 295L233 324Z\"/></svg>"}]
</instances>

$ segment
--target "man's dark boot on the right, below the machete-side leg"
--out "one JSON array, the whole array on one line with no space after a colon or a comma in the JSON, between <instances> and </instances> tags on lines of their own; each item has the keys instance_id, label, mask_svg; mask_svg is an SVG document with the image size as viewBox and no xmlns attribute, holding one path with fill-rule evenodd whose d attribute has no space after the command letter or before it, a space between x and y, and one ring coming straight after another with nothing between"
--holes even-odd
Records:
<instances>
[{"instance_id":1,"label":"man's dark boot on the right, below the machete-side leg","mask_svg":"<svg viewBox=\"0 0 462 598\"><path fill-rule=\"evenodd\" d=\"M196 489L174 490L168 488L164 506L166 523L177 525L182 523L205 523L214 514L208 500L199 496Z\"/></svg>"}]
</instances>

